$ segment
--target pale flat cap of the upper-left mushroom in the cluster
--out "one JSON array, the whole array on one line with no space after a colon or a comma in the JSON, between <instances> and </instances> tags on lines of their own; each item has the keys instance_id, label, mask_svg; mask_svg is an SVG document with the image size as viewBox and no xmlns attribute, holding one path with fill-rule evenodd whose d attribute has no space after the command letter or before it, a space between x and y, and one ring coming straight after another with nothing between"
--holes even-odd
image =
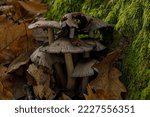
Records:
<instances>
[{"instance_id":1,"label":"pale flat cap of the upper-left mushroom in the cluster","mask_svg":"<svg viewBox=\"0 0 150 117\"><path fill-rule=\"evenodd\" d=\"M57 28L61 29L59 22L57 21L37 21L33 24L30 24L28 26L29 29L33 28L44 28L44 27L51 27L51 28Z\"/></svg>"}]
</instances>

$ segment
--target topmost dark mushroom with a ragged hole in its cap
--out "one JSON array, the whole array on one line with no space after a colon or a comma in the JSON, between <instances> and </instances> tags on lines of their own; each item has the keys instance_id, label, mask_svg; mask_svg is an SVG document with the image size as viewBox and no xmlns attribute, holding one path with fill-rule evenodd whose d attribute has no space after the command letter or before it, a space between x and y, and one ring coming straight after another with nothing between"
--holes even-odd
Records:
<instances>
[{"instance_id":1,"label":"topmost dark mushroom with a ragged hole in its cap","mask_svg":"<svg viewBox=\"0 0 150 117\"><path fill-rule=\"evenodd\" d=\"M113 27L102 20L87 16L80 12L72 12L64 15L61 20L62 26L74 27L79 33L88 33L89 37L94 38L94 31L102 28ZM71 32L71 31L70 31Z\"/></svg>"}]
</instances>

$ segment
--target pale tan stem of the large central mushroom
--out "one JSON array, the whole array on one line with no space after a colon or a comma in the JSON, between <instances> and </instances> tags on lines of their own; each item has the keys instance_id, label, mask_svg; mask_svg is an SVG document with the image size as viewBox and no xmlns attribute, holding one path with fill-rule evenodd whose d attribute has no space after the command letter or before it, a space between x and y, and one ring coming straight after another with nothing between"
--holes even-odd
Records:
<instances>
[{"instance_id":1,"label":"pale tan stem of the large central mushroom","mask_svg":"<svg viewBox=\"0 0 150 117\"><path fill-rule=\"evenodd\" d=\"M67 89L74 90L75 79L72 78L74 66L73 66L72 56L70 53L65 53L65 62L66 62L67 75L68 75Z\"/></svg>"}]
</instances>

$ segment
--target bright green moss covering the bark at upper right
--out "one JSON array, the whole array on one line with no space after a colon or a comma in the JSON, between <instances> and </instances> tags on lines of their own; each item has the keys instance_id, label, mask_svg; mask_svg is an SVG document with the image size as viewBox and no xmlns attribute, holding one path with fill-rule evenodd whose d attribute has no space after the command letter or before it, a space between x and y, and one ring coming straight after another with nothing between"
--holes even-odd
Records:
<instances>
[{"instance_id":1,"label":"bright green moss covering the bark at upper right","mask_svg":"<svg viewBox=\"0 0 150 117\"><path fill-rule=\"evenodd\" d=\"M44 0L49 19L81 11L115 24L130 42L121 63L127 99L150 99L150 1L149 0ZM116 40L120 36L115 36Z\"/></svg>"}]
</instances>

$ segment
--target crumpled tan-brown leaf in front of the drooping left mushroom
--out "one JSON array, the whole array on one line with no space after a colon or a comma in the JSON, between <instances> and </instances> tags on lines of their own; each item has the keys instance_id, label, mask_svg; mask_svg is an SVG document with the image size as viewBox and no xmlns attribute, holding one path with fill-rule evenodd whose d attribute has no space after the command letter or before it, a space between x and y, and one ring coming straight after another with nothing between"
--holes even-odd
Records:
<instances>
[{"instance_id":1,"label":"crumpled tan-brown leaf in front of the drooping left mushroom","mask_svg":"<svg viewBox=\"0 0 150 117\"><path fill-rule=\"evenodd\" d=\"M36 97L53 99L55 92L50 88L50 74L44 73L41 67L37 68L34 64L31 64L27 71L36 81L37 85L34 85Z\"/></svg>"}]
</instances>

